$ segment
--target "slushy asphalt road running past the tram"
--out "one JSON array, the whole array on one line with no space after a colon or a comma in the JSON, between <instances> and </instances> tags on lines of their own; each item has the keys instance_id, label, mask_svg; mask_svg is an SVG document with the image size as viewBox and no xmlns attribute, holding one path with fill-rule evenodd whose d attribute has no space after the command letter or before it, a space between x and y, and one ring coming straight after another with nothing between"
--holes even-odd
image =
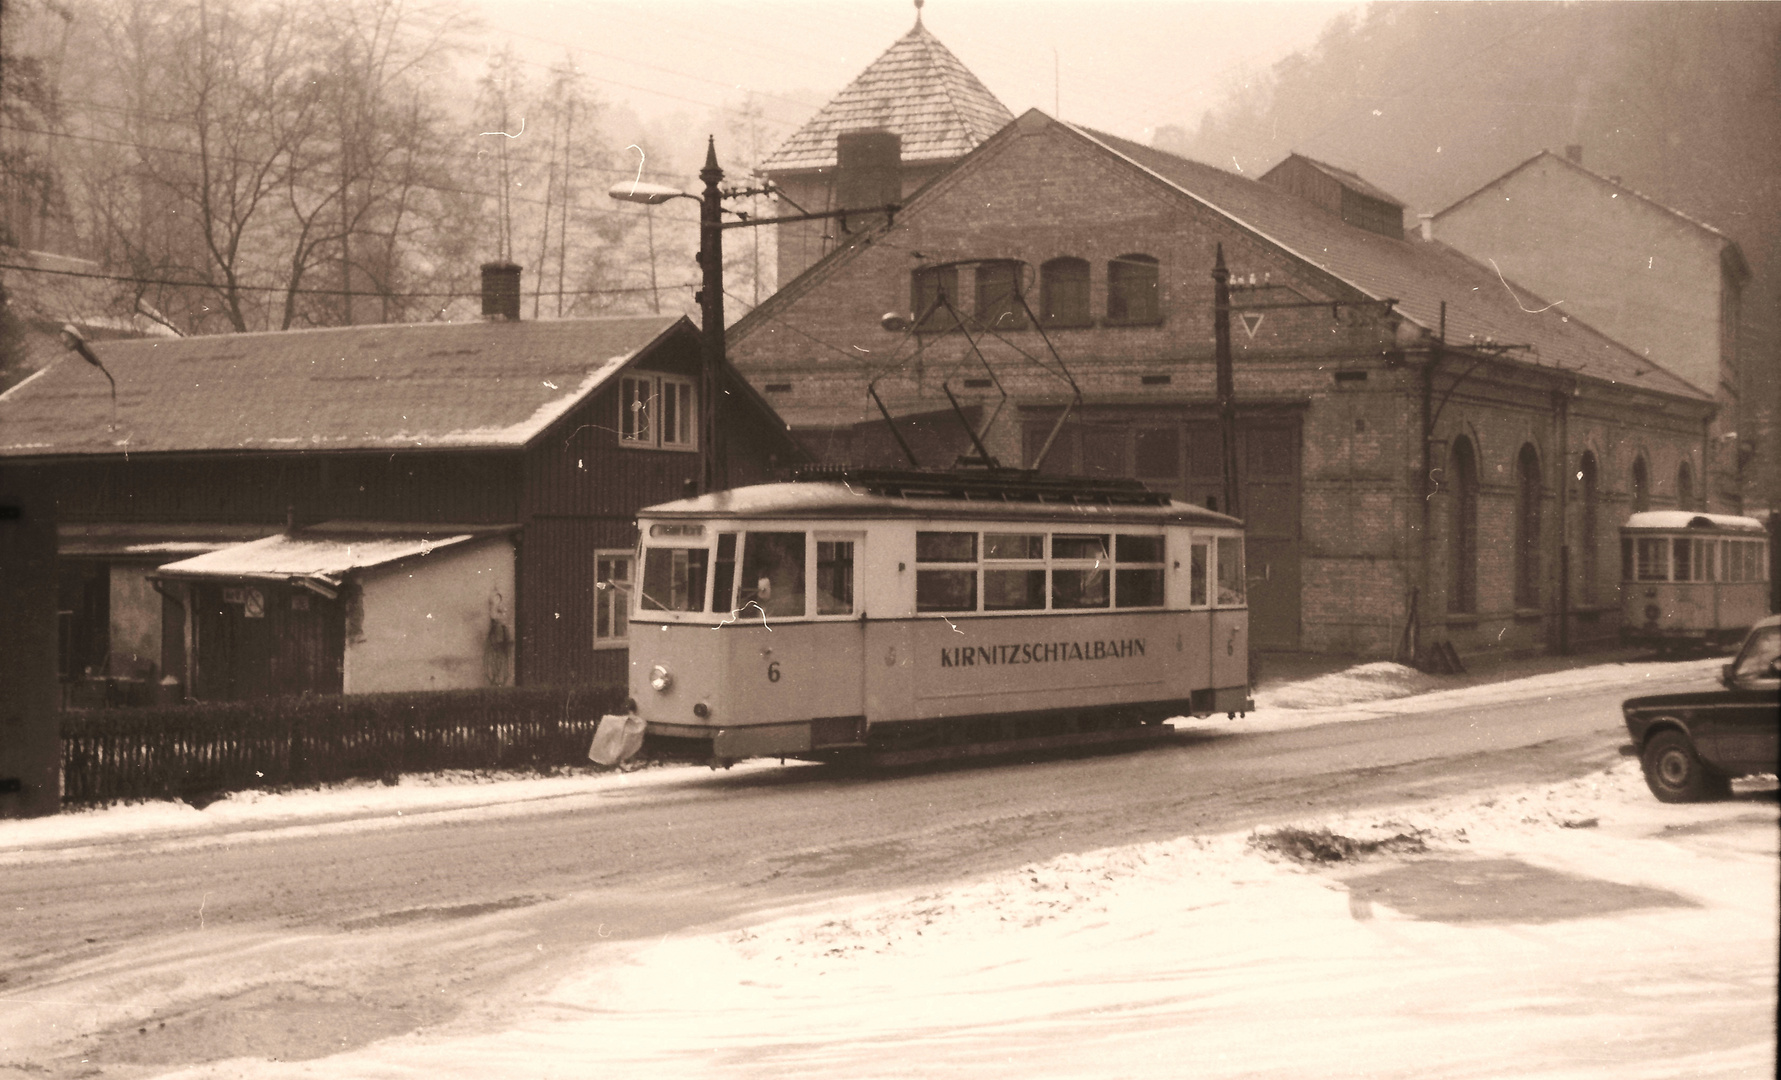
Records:
<instances>
[{"instance_id":1,"label":"slushy asphalt road running past the tram","mask_svg":"<svg viewBox=\"0 0 1781 1080\"><path fill-rule=\"evenodd\" d=\"M525 816L116 843L7 866L0 1076L305 1059L447 1019L495 1023L607 941L1067 852L1582 775L1624 741L1622 697L874 775L686 770Z\"/></svg>"}]
</instances>

